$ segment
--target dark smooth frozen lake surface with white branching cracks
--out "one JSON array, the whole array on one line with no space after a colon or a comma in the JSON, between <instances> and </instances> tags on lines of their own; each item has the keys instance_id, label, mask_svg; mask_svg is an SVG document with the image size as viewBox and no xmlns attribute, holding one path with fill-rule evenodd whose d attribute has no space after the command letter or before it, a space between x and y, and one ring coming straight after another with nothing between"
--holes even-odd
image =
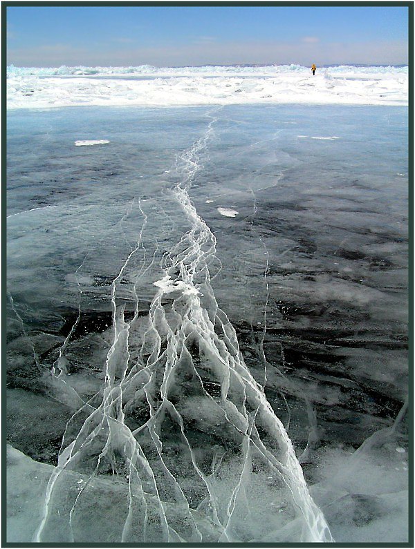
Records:
<instances>
[{"instance_id":1,"label":"dark smooth frozen lake surface with white branching cracks","mask_svg":"<svg viewBox=\"0 0 415 549\"><path fill-rule=\"evenodd\" d=\"M10 111L8 541L407 541L407 194L404 107Z\"/></svg>"}]
</instances>

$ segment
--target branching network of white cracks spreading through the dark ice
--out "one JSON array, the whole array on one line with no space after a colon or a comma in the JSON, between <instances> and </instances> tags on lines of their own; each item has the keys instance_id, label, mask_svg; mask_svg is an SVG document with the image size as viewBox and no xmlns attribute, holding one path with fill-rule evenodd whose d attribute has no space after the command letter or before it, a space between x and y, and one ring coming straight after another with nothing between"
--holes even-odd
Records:
<instances>
[{"instance_id":1,"label":"branching network of white cracks spreading through the dark ice","mask_svg":"<svg viewBox=\"0 0 415 549\"><path fill-rule=\"evenodd\" d=\"M147 254L151 265L155 253L146 248L138 199L137 240L111 285L104 388L68 423L33 541L88 541L91 524L102 536L94 541L333 541L210 285L216 239L188 193L214 138L214 111L207 116L203 137L176 159L172 198L188 230L163 255L164 276L145 317L137 288L148 267L134 260ZM136 296L129 319L119 297L125 278ZM75 398L66 343L50 385Z\"/></svg>"}]
</instances>

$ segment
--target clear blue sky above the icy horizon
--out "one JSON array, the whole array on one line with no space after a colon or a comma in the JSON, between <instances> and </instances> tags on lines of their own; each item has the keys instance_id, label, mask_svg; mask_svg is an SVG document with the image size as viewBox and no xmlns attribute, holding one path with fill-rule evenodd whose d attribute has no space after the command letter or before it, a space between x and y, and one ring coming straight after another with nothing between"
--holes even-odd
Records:
<instances>
[{"instance_id":1,"label":"clear blue sky above the icy horizon","mask_svg":"<svg viewBox=\"0 0 415 549\"><path fill-rule=\"evenodd\" d=\"M8 6L15 66L407 64L405 6Z\"/></svg>"}]
</instances>

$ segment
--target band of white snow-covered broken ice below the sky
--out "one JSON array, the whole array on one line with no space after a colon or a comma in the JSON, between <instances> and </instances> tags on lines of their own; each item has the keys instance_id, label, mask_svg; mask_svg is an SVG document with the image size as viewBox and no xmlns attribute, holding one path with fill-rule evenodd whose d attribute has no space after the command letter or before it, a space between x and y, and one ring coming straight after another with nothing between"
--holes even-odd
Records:
<instances>
[{"instance_id":1,"label":"band of white snow-covered broken ice below the sky","mask_svg":"<svg viewBox=\"0 0 415 549\"><path fill-rule=\"evenodd\" d=\"M203 104L407 105L407 67L17 68L8 108Z\"/></svg>"}]
</instances>

